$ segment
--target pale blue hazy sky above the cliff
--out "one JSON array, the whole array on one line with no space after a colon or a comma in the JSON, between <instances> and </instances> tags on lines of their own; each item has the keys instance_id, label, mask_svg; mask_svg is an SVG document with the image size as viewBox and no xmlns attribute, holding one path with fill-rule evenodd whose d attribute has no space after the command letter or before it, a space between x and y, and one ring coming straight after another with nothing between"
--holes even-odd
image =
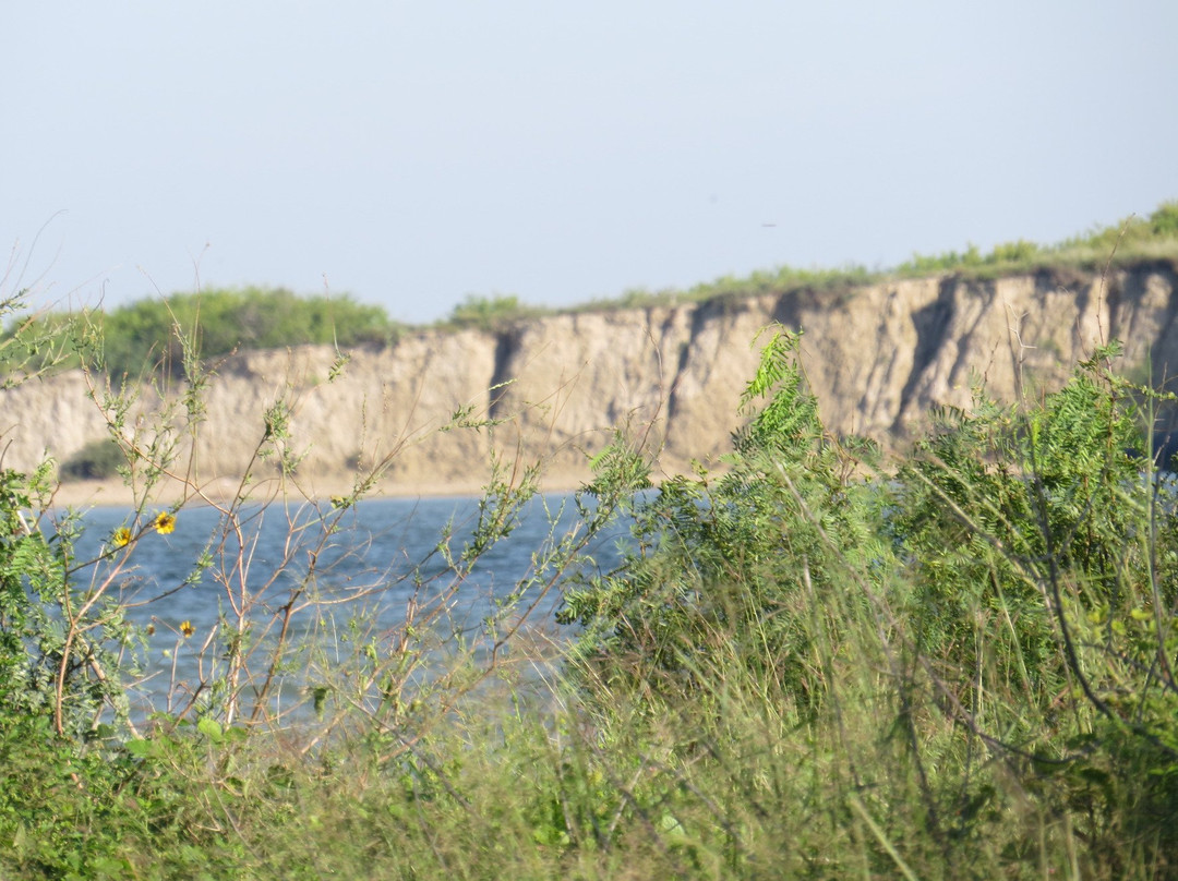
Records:
<instances>
[{"instance_id":1,"label":"pale blue hazy sky above the cliff","mask_svg":"<svg viewBox=\"0 0 1178 881\"><path fill-rule=\"evenodd\" d=\"M205 287L326 277L425 322L468 293L1054 241L1178 198L1173 0L8 0L0 21L5 290L24 270L42 303L194 290L199 264Z\"/></svg>"}]
</instances>

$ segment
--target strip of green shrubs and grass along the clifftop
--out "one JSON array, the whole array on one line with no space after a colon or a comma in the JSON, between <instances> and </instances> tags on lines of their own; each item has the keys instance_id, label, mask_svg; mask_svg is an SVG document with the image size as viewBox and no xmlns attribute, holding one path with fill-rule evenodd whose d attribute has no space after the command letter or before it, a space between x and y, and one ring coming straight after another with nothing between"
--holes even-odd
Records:
<instances>
[{"instance_id":1,"label":"strip of green shrubs and grass along the clifftop","mask_svg":"<svg viewBox=\"0 0 1178 881\"><path fill-rule=\"evenodd\" d=\"M1163 203L1147 218L1132 217L1055 245L1019 239L995 245L988 253L974 245L964 251L916 253L889 271L860 265L810 270L781 266L746 277L724 276L686 291L631 289L621 297L593 300L571 311L637 309L796 290L846 291L889 277L945 272L992 278L1041 269L1098 271L1110 261L1125 265L1151 259L1178 260L1178 200ZM494 331L554 311L524 304L512 294L468 294L435 326ZM249 349L307 343L340 347L386 344L405 330L406 325L391 319L383 307L358 303L348 294L297 296L285 289L241 287L174 293L108 311L16 319L0 333L0 350L32 352L33 365L77 366L85 362L115 379L181 377L186 351L190 358L209 364Z\"/></svg>"}]
</instances>

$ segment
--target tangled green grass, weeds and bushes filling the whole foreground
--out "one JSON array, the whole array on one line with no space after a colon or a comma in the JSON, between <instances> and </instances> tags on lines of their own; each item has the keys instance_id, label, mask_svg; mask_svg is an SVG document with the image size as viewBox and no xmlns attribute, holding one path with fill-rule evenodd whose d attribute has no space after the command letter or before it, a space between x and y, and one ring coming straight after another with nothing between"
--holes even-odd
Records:
<instances>
[{"instance_id":1,"label":"tangled green grass, weeds and bushes filling the whole foreground","mask_svg":"<svg viewBox=\"0 0 1178 881\"><path fill-rule=\"evenodd\" d=\"M256 628L330 609L303 583L286 604L227 594L224 673L138 727L134 634L44 541L45 473L8 472L0 874L1178 877L1178 514L1149 437L1172 396L1110 344L1052 395L979 389L888 461L825 432L796 343L769 332L721 472L651 489L653 451L595 457L580 525L488 622L490 658L428 610L511 531L528 469L492 470L469 542L439 537L441 581L410 572L405 625L271 643L257 676L233 665ZM366 485L292 541L330 541ZM229 571L245 510L226 506ZM585 538L618 516L603 569ZM551 647L517 624L555 589L576 629L537 691ZM317 677L303 715L267 711L264 683L297 670Z\"/></svg>"}]
</instances>

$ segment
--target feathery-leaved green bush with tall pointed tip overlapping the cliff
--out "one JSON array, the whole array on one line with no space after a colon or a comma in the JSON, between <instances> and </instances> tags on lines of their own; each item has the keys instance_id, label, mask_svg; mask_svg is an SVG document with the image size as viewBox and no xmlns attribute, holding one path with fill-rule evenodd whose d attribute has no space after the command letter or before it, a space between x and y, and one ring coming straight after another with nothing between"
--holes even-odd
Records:
<instances>
[{"instance_id":1,"label":"feathery-leaved green bush with tall pointed tip overlapping the cliff","mask_svg":"<svg viewBox=\"0 0 1178 881\"><path fill-rule=\"evenodd\" d=\"M796 345L779 330L765 346L743 402L768 402L735 435L728 471L638 498L620 567L567 591L558 620L584 625L581 651L597 675L684 698L699 687L699 653L722 642L799 704L821 702L827 671L813 663L807 597L835 590L851 561L878 564L889 550L868 525L872 488L848 479L848 457L823 438ZM828 636L846 612L829 609Z\"/></svg>"}]
</instances>

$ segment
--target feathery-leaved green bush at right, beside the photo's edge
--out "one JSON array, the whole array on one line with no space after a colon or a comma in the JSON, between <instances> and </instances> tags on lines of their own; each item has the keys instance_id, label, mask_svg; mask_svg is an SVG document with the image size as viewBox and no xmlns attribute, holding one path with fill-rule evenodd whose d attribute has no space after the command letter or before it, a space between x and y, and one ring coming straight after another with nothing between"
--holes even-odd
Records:
<instances>
[{"instance_id":1,"label":"feathery-leaved green bush at right, beside the photo's edge","mask_svg":"<svg viewBox=\"0 0 1178 881\"><path fill-rule=\"evenodd\" d=\"M1147 444L1129 390L1100 372L1114 355L1026 411L942 411L898 475L889 523L912 561L922 650L971 664L985 651L1045 704L1074 668L1060 615L1124 612L1150 583Z\"/></svg>"}]
</instances>

